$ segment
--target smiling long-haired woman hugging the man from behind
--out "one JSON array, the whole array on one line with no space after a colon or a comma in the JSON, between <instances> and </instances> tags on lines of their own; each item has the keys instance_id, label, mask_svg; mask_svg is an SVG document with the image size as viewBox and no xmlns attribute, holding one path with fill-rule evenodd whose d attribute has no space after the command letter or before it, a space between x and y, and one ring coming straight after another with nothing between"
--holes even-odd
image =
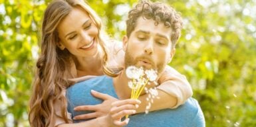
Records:
<instances>
[{"instance_id":1,"label":"smiling long-haired woman hugging the man from behind","mask_svg":"<svg viewBox=\"0 0 256 127\"><path fill-rule=\"evenodd\" d=\"M98 15L82 0L56 0L47 7L42 26L41 55L30 101L31 126L70 123L66 111L66 88L88 78L84 77L86 75L103 75L105 72L114 76L115 68L122 67L122 48L103 37L101 25ZM161 90L158 91L166 93L160 99L168 96L172 101L165 102L162 107L152 105L154 110L176 108L192 96L186 78L174 70L166 73L160 77L158 88ZM110 105L115 101L109 100L104 102Z\"/></svg>"}]
</instances>

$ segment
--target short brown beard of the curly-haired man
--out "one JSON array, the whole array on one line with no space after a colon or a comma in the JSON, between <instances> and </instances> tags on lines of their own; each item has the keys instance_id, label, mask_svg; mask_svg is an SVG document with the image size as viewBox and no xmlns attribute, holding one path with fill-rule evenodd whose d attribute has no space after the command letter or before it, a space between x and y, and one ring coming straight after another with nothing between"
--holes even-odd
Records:
<instances>
[{"instance_id":1,"label":"short brown beard of the curly-haired man","mask_svg":"<svg viewBox=\"0 0 256 127\"><path fill-rule=\"evenodd\" d=\"M148 60L148 62L150 62L151 67L146 67L144 65L136 65L139 60ZM128 52L126 50L126 54L124 55L124 65L125 65L125 69L131 65L134 65L136 67L144 67L144 69L155 69L158 73L162 73L162 71L164 71L164 67L166 66L167 62L160 62L160 63L155 63L154 60L152 60L152 57L148 56L148 55L141 55L138 56L136 58L132 58L132 56L130 55L130 52Z\"/></svg>"}]
</instances>

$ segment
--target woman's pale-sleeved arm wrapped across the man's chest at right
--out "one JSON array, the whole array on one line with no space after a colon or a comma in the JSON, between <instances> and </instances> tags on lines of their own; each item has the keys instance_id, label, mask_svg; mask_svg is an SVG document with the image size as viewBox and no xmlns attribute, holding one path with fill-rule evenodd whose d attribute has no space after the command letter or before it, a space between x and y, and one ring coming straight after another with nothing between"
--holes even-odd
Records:
<instances>
[{"instance_id":1,"label":"woman's pale-sleeved arm wrapped across the man's chest at right","mask_svg":"<svg viewBox=\"0 0 256 127\"><path fill-rule=\"evenodd\" d=\"M151 103L148 111L177 108L184 104L189 97L192 97L192 88L186 77L168 65L158 79L158 83L160 83L157 87L158 99L153 99L154 103ZM137 113L145 112L146 106L149 103L146 100L147 98L148 94L141 95L138 98L142 103L136 110Z\"/></svg>"}]
</instances>

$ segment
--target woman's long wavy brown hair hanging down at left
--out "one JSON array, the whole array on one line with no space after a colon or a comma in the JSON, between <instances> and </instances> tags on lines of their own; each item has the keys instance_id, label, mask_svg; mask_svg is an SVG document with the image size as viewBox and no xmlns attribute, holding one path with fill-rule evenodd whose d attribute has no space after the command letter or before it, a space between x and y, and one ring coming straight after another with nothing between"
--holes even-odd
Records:
<instances>
[{"instance_id":1,"label":"woman's long wavy brown hair hanging down at left","mask_svg":"<svg viewBox=\"0 0 256 127\"><path fill-rule=\"evenodd\" d=\"M54 0L52 1L43 17L41 31L41 54L37 60L37 73L33 83L33 92L29 104L29 122L32 127L55 126L56 110L54 104L61 102L61 116L67 123L66 97L63 91L70 85L72 78L72 57L68 50L61 50L57 44L60 40L57 26L72 11L74 7L82 7L90 19L96 24L98 44L104 51L104 60L107 60L106 48L101 39L102 30L100 18L82 0Z\"/></svg>"}]
</instances>

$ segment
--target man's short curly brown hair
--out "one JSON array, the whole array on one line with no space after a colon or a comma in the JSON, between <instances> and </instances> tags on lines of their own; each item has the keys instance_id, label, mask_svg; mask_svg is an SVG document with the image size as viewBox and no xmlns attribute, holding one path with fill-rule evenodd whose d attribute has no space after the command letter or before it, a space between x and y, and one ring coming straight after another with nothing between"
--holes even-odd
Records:
<instances>
[{"instance_id":1,"label":"man's short curly brown hair","mask_svg":"<svg viewBox=\"0 0 256 127\"><path fill-rule=\"evenodd\" d=\"M126 21L126 35L130 36L134 28L136 27L136 22L139 17L144 17L146 19L153 19L155 24L162 22L166 27L172 28L172 48L175 48L176 42L181 36L182 30L182 17L180 13L176 12L172 7L156 2L152 3L150 1L140 1L136 7L128 13L128 19Z\"/></svg>"}]
</instances>

